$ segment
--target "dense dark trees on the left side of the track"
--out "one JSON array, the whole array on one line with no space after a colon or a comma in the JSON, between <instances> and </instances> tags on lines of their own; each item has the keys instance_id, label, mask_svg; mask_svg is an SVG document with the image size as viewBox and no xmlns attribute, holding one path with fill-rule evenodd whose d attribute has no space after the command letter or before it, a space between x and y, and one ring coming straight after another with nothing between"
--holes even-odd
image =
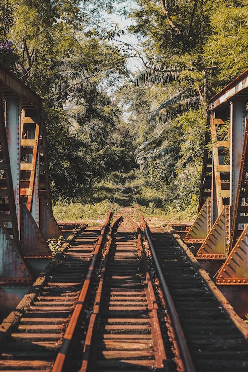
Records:
<instances>
[{"instance_id":1,"label":"dense dark trees on the left side of the track","mask_svg":"<svg viewBox=\"0 0 248 372\"><path fill-rule=\"evenodd\" d=\"M121 48L90 27L81 1L3 0L0 64L44 100L54 200L134 165L120 110L106 90L128 75Z\"/></svg>"}]
</instances>

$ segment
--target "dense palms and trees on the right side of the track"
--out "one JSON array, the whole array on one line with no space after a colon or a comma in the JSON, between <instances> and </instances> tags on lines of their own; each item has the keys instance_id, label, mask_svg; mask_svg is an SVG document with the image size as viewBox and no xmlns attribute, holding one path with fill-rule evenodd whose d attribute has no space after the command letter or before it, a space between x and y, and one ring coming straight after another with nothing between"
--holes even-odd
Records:
<instances>
[{"instance_id":1,"label":"dense palms and trees on the right side of the track","mask_svg":"<svg viewBox=\"0 0 248 372\"><path fill-rule=\"evenodd\" d=\"M247 67L248 1L135 2L130 31L140 37L145 67L119 99L135 124L136 160L165 206L194 209L206 103Z\"/></svg>"}]
</instances>

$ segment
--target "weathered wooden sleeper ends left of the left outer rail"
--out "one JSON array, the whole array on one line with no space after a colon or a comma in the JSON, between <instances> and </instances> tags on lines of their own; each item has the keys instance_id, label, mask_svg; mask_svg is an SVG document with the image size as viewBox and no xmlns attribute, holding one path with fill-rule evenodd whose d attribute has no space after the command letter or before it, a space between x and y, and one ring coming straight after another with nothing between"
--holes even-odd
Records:
<instances>
[{"instance_id":1,"label":"weathered wooden sleeper ends left of the left outer rail","mask_svg":"<svg viewBox=\"0 0 248 372\"><path fill-rule=\"evenodd\" d=\"M30 295L3 322L0 331L0 371L52 370L66 328L79 302L100 229L87 227L71 246L55 257Z\"/></svg>"}]
</instances>

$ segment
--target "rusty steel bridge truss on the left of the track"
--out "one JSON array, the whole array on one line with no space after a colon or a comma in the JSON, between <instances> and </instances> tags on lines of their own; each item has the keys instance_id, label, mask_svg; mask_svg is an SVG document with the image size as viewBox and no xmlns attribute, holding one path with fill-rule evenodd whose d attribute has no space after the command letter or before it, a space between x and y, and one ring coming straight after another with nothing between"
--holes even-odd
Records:
<instances>
[{"instance_id":1,"label":"rusty steel bridge truss on the left of the track","mask_svg":"<svg viewBox=\"0 0 248 372\"><path fill-rule=\"evenodd\" d=\"M60 235L52 213L42 100L0 69L0 299L10 308L30 285L34 262L52 256L47 240Z\"/></svg>"}]
</instances>

